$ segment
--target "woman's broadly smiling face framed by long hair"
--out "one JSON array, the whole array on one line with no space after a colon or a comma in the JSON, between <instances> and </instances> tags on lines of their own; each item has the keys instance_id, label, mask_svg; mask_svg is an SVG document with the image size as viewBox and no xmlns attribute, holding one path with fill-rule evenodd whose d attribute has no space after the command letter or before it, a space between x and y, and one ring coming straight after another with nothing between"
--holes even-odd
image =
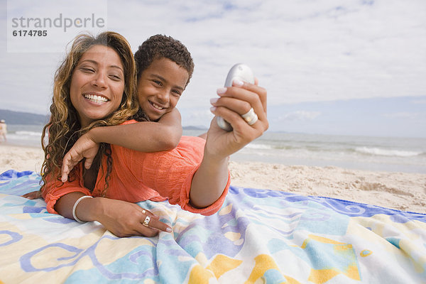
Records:
<instances>
[{"instance_id":1,"label":"woman's broadly smiling face framed by long hair","mask_svg":"<svg viewBox=\"0 0 426 284\"><path fill-rule=\"evenodd\" d=\"M82 127L119 108L124 67L112 48L93 45L82 55L71 77L70 97Z\"/></svg>"}]
</instances>

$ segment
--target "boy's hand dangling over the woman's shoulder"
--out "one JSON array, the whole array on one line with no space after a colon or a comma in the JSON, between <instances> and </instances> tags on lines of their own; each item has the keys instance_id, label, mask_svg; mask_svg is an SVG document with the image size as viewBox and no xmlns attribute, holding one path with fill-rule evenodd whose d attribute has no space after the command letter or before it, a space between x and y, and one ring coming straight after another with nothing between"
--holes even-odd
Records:
<instances>
[{"instance_id":1,"label":"boy's hand dangling over the woman's shoulder","mask_svg":"<svg viewBox=\"0 0 426 284\"><path fill-rule=\"evenodd\" d=\"M93 141L90 137L89 132L82 135L75 142L74 146L68 151L62 160L62 182L68 180L68 175L70 174L72 168L77 165L83 158L86 158L84 161L84 168L89 169L92 166L94 157L99 150L99 143Z\"/></svg>"}]
</instances>

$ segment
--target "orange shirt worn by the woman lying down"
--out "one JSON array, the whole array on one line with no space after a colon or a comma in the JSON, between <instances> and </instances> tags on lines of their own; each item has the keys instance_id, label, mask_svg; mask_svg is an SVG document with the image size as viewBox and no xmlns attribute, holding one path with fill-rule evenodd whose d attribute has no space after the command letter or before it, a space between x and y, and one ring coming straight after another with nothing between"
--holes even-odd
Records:
<instances>
[{"instance_id":1,"label":"orange shirt worn by the woman lying down","mask_svg":"<svg viewBox=\"0 0 426 284\"><path fill-rule=\"evenodd\" d=\"M192 177L200 167L204 153L204 139L182 136L178 147L171 151L143 153L121 146L111 145L112 168L109 186L105 197L140 202L143 200L163 201L179 204L190 212L211 215L222 206L229 189L230 178L221 197L209 207L197 209L190 202ZM102 160L106 169L107 159ZM76 179L72 182L48 182L43 187L43 198L48 212L56 213L56 201L70 192L82 192L84 195L99 197L105 187L105 178L99 170L94 190L84 187L82 163L75 167Z\"/></svg>"}]
</instances>

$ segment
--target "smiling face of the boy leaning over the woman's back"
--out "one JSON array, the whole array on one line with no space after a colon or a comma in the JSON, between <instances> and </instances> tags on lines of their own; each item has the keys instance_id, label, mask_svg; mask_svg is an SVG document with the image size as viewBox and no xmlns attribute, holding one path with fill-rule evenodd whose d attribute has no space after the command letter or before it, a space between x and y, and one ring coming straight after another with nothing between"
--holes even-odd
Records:
<instances>
[{"instance_id":1,"label":"smiling face of the boy leaning over the woman's back","mask_svg":"<svg viewBox=\"0 0 426 284\"><path fill-rule=\"evenodd\" d=\"M185 90L187 70L168 58L153 60L138 80L139 106L151 121L172 111Z\"/></svg>"}]
</instances>

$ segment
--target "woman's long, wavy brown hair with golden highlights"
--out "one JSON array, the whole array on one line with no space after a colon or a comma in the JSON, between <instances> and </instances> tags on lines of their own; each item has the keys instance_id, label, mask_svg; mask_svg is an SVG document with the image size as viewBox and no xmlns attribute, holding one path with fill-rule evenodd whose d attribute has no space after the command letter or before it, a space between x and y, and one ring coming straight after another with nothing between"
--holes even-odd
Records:
<instances>
[{"instance_id":1,"label":"woman's long, wavy brown hair with golden highlights","mask_svg":"<svg viewBox=\"0 0 426 284\"><path fill-rule=\"evenodd\" d=\"M116 51L124 67L124 92L121 104L116 111L104 117L104 119L93 121L88 126L82 127L78 119L77 111L72 106L70 99L70 84L72 74L82 55L94 45L104 45ZM53 101L50 105L50 121L44 126L41 144L45 153L45 160L41 168L42 182L41 190L49 180L60 180L62 159L70 151L82 134L98 126L111 126L121 124L138 113L138 101L136 96L136 67L130 44L119 33L107 31L97 36L82 34L77 35L72 47L62 64L55 72L53 85ZM45 136L48 135L48 143L45 144ZM102 157L107 155L107 172L105 174L106 188L108 186L109 174L111 173L111 151L109 144L102 143L94 160L94 166L99 168ZM104 169L102 169L104 173ZM75 170L70 173L70 179L75 178Z\"/></svg>"}]
</instances>

